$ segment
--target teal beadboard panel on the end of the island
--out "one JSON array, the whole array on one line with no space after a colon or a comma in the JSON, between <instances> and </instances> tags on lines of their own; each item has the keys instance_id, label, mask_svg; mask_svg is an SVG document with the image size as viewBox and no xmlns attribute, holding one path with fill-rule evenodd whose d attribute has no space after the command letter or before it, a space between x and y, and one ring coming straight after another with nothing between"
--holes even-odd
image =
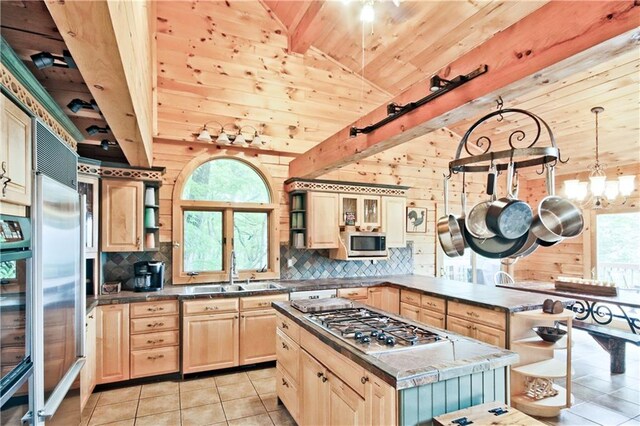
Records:
<instances>
[{"instance_id":1,"label":"teal beadboard panel on the end of the island","mask_svg":"<svg viewBox=\"0 0 640 426\"><path fill-rule=\"evenodd\" d=\"M434 417L473 405L507 403L507 367L399 391L400 425L431 424Z\"/></svg>"}]
</instances>

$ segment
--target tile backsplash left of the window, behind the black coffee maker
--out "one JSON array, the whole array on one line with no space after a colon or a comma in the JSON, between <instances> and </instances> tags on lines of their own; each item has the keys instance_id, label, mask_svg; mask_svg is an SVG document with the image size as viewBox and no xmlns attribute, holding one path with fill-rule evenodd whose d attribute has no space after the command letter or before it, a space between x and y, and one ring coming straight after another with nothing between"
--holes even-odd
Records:
<instances>
[{"instance_id":1,"label":"tile backsplash left of the window, behind the black coffee maker","mask_svg":"<svg viewBox=\"0 0 640 426\"><path fill-rule=\"evenodd\" d=\"M158 251L103 253L104 281L120 281L124 287L133 287L133 264L161 260L164 262L164 285L171 284L171 243L160 243Z\"/></svg>"}]
</instances>

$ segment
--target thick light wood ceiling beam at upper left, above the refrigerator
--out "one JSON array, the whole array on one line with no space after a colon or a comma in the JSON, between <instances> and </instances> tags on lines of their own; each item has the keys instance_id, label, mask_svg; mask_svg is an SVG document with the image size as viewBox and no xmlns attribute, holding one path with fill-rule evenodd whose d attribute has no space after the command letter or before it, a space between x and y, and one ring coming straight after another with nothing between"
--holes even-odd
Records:
<instances>
[{"instance_id":1,"label":"thick light wood ceiling beam at upper left, above the refrigerator","mask_svg":"<svg viewBox=\"0 0 640 426\"><path fill-rule=\"evenodd\" d=\"M127 161L150 167L152 83L146 2L47 0L46 5Z\"/></svg>"}]
</instances>

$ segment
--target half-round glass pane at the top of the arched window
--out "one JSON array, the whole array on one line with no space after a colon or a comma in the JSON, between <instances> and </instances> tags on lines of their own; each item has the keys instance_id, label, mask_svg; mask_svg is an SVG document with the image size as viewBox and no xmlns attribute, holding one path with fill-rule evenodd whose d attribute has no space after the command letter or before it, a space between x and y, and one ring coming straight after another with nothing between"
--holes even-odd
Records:
<instances>
[{"instance_id":1,"label":"half-round glass pane at the top of the arched window","mask_svg":"<svg viewBox=\"0 0 640 426\"><path fill-rule=\"evenodd\" d=\"M229 158L195 169L182 190L183 200L269 203L269 189L258 171Z\"/></svg>"}]
</instances>

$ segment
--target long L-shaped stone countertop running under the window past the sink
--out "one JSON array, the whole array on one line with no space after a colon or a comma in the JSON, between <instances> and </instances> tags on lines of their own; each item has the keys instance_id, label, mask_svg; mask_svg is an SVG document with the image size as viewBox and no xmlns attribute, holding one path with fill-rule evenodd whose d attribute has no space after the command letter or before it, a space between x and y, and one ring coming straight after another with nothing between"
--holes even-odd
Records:
<instances>
[{"instance_id":1,"label":"long L-shaped stone countertop running under the window past the sink","mask_svg":"<svg viewBox=\"0 0 640 426\"><path fill-rule=\"evenodd\" d=\"M246 297L266 294L289 293L292 291L307 291L321 289L339 289L351 287L373 287L391 285L400 289L415 290L424 294L443 297L447 300L461 301L486 308L497 308L508 312L527 311L542 307L548 296L537 293L526 293L521 290L498 288L487 285L470 284L445 278L428 277L424 275L389 275L380 277L361 278L326 278L313 280L283 280L277 281L283 289L259 290L229 293L194 294L190 285L169 285L164 289L149 293L121 291L116 294L87 296L87 312L98 305L117 303L149 302L170 299L196 299L218 297ZM574 299L561 300L565 305L572 304Z\"/></svg>"}]
</instances>

